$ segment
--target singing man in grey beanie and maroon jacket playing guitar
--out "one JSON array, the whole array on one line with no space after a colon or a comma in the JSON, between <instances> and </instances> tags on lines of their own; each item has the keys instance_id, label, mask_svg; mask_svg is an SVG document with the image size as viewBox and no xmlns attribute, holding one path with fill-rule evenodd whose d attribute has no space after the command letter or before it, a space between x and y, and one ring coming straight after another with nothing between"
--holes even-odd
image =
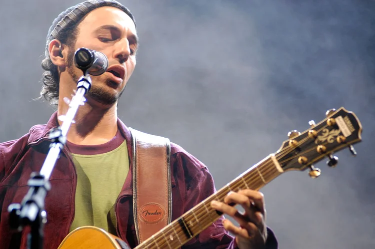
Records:
<instances>
[{"instance_id":1,"label":"singing man in grey beanie and maroon jacket playing guitar","mask_svg":"<svg viewBox=\"0 0 375 249\"><path fill-rule=\"evenodd\" d=\"M100 227L125 241L131 248L138 242L134 232L131 202L131 135L117 118L117 101L135 64L138 37L130 11L113 0L88 0L68 8L52 23L42 61L41 96L57 104L46 125L32 127L16 141L0 144L1 248L25 248L22 235L9 231L7 207L24 197L31 172L39 172L48 152L48 131L61 125L76 82L82 72L74 66L73 54L86 47L108 58L108 69L91 76L85 95L70 126L67 143L57 160L45 199L47 224L44 248L57 248L63 238L81 226ZM171 143L172 220L214 193L207 168L178 145ZM241 214L235 207L241 205ZM275 249L277 242L265 224L260 192L229 193L224 202L211 207L232 217L240 227L220 218L183 248ZM228 232L235 235L229 236Z\"/></svg>"}]
</instances>

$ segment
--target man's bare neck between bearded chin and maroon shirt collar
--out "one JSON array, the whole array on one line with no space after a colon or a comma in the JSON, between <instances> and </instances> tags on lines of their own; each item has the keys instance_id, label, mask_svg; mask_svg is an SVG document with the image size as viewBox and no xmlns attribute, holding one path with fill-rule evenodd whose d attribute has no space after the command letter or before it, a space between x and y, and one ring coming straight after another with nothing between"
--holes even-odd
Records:
<instances>
[{"instance_id":1,"label":"man's bare neck between bearded chin and maroon shirt collar","mask_svg":"<svg viewBox=\"0 0 375 249\"><path fill-rule=\"evenodd\" d=\"M65 115L69 106L59 99L57 116ZM117 132L117 107L98 108L85 102L79 106L69 127L67 141L78 145L98 145L111 140ZM58 120L59 125L62 124Z\"/></svg>"}]
</instances>

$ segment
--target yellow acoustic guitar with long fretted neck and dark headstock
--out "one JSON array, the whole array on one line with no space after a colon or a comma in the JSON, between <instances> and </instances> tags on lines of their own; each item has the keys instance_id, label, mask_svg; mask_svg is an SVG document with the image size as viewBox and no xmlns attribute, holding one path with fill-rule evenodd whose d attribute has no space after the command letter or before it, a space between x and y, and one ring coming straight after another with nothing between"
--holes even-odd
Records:
<instances>
[{"instance_id":1,"label":"yellow acoustic guitar with long fretted neck and dark headstock","mask_svg":"<svg viewBox=\"0 0 375 249\"><path fill-rule=\"evenodd\" d=\"M324 158L335 167L338 158L332 153L348 148L353 156L353 144L361 141L362 126L353 112L343 107L326 112L326 118L300 133L288 133L288 139L273 154L252 166L216 193L177 218L162 230L139 244L136 249L177 249L209 227L222 214L210 207L212 200L223 201L229 191L259 190L277 176L291 170L309 170L311 178L320 175L313 166ZM58 249L129 249L118 237L96 227L80 227L69 233Z\"/></svg>"}]
</instances>

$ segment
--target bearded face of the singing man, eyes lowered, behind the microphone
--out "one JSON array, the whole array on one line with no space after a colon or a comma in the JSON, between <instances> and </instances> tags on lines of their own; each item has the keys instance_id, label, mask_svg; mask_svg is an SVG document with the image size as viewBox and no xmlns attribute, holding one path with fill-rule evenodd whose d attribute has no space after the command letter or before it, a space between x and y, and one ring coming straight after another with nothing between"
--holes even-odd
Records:
<instances>
[{"instance_id":1,"label":"bearded face of the singing man, eyes lowered, behind the microphone","mask_svg":"<svg viewBox=\"0 0 375 249\"><path fill-rule=\"evenodd\" d=\"M122 10L105 6L89 12L77 29L74 48L69 48L66 59L67 72L75 83L82 75L73 62L76 49L86 47L104 53L108 58L108 69L99 76L90 76L92 84L86 98L112 105L121 96L135 67L137 36L134 22Z\"/></svg>"}]
</instances>

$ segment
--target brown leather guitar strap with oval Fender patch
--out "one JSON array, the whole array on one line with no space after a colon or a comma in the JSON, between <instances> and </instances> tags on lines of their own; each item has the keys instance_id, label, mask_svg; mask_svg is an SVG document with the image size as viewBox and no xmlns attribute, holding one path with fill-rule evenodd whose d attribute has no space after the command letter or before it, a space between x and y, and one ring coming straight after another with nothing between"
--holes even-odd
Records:
<instances>
[{"instance_id":1,"label":"brown leather guitar strap with oval Fender patch","mask_svg":"<svg viewBox=\"0 0 375 249\"><path fill-rule=\"evenodd\" d=\"M140 244L171 221L170 142L129 129L133 150L133 217Z\"/></svg>"}]
</instances>

